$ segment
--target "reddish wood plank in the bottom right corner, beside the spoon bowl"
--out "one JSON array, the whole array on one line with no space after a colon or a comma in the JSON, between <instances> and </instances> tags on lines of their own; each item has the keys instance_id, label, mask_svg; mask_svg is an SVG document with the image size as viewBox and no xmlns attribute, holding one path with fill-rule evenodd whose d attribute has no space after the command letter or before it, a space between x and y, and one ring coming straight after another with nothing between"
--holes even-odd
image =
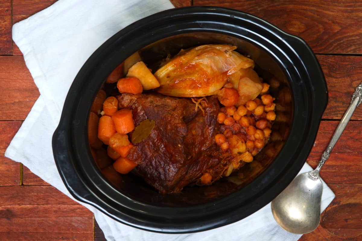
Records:
<instances>
[{"instance_id":1,"label":"reddish wood plank in the bottom right corner, beside the spoon bowl","mask_svg":"<svg viewBox=\"0 0 362 241\"><path fill-rule=\"evenodd\" d=\"M336 198L321 216L316 231L300 240L362 240L362 184L331 184Z\"/></svg>"}]
</instances>

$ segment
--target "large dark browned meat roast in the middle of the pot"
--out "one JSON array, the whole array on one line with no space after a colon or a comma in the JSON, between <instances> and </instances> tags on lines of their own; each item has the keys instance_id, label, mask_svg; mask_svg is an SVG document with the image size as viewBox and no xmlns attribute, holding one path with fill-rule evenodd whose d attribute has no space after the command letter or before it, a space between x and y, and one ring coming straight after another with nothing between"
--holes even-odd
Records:
<instances>
[{"instance_id":1,"label":"large dark browned meat roast in the middle of the pot","mask_svg":"<svg viewBox=\"0 0 362 241\"><path fill-rule=\"evenodd\" d=\"M217 180L231 163L232 157L214 141L219 133L216 96L202 102L205 113L195 111L195 103L185 98L122 94L117 99L119 108L132 109L136 126L144 119L156 122L151 134L135 143L127 158L138 164L134 172L161 193L180 192L206 171Z\"/></svg>"}]
</instances>

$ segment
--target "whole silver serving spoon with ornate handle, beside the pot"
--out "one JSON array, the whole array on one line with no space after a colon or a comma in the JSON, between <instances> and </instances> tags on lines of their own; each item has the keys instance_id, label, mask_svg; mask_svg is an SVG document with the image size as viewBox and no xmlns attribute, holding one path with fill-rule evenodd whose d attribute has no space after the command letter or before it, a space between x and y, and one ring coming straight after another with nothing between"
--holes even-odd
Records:
<instances>
[{"instance_id":1,"label":"whole silver serving spoon with ornate handle, beside the pot","mask_svg":"<svg viewBox=\"0 0 362 241\"><path fill-rule=\"evenodd\" d=\"M362 83L353 95L346 113L338 124L327 149L313 171L301 173L271 202L271 212L277 223L286 231L303 234L315 230L320 222L320 202L323 186L319 171L336 145L348 121L362 102Z\"/></svg>"}]
</instances>

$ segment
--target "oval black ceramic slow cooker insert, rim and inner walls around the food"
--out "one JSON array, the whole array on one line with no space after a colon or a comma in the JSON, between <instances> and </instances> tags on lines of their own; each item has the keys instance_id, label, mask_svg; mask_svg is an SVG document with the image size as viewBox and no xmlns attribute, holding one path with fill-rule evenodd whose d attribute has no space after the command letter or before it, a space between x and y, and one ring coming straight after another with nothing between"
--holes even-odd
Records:
<instances>
[{"instance_id":1,"label":"oval black ceramic slow cooker insert, rim and inner walls around the food","mask_svg":"<svg viewBox=\"0 0 362 241\"><path fill-rule=\"evenodd\" d=\"M159 194L140 178L122 175L114 183L90 153L90 106L105 79L128 56L140 51L146 63L201 44L233 44L254 60L270 83L277 120L270 142L240 177L211 186L186 187ZM87 44L87 43L84 43ZM99 47L80 69L68 92L52 140L56 165L76 199L122 223L148 231L204 231L241 220L273 200L296 176L314 143L327 105L327 86L308 45L270 23L236 10L178 8L153 14L122 29ZM231 179L230 179L231 178Z\"/></svg>"}]
</instances>

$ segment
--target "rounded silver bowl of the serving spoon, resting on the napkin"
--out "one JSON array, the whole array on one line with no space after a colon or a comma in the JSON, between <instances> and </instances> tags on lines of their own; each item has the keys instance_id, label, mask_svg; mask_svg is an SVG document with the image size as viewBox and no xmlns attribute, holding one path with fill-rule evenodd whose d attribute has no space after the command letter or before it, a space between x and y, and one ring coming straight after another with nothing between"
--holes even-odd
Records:
<instances>
[{"instance_id":1,"label":"rounded silver bowl of the serving spoon, resting on the napkin","mask_svg":"<svg viewBox=\"0 0 362 241\"><path fill-rule=\"evenodd\" d=\"M297 234L312 232L320 221L322 191L320 178L314 179L308 172L298 175L271 202L274 219L288 232Z\"/></svg>"}]
</instances>

